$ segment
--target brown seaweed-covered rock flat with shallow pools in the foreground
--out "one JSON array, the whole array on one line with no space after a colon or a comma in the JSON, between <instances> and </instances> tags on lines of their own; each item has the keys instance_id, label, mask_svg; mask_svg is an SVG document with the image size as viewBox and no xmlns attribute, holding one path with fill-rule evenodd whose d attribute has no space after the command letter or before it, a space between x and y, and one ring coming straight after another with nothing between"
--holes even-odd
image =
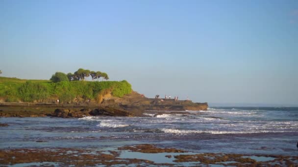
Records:
<instances>
[{"instance_id":1,"label":"brown seaweed-covered rock flat with shallow pools in the foreground","mask_svg":"<svg viewBox=\"0 0 298 167\"><path fill-rule=\"evenodd\" d=\"M138 152L147 158L125 158L125 153ZM162 154L161 154L162 153ZM156 163L150 156L159 154L169 163ZM161 157L162 158L162 157ZM194 153L176 148L161 148L143 144L122 146L110 150L95 148L15 148L0 150L1 165L37 166L237 166L237 167L294 167L298 156L250 155L234 153ZM32 164L31 164L32 165Z\"/></svg>"}]
</instances>

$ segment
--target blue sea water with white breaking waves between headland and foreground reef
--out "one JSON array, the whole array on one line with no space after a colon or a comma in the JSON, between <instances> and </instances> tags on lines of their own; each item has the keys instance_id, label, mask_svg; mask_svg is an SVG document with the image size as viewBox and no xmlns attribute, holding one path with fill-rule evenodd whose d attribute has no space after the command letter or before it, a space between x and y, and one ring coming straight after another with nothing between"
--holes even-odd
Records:
<instances>
[{"instance_id":1,"label":"blue sea water with white breaking waves between headland and foreground reef","mask_svg":"<svg viewBox=\"0 0 298 167\"><path fill-rule=\"evenodd\" d=\"M0 118L0 149L117 149L156 144L192 152L298 155L298 107L210 107L148 117ZM42 141L42 142L36 142Z\"/></svg>"}]
</instances>

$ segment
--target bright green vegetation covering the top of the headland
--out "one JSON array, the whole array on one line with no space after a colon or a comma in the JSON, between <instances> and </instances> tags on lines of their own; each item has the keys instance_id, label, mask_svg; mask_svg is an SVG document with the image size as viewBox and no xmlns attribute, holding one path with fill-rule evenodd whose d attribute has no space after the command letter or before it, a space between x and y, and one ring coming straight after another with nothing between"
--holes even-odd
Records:
<instances>
[{"instance_id":1,"label":"bright green vegetation covering the top of the headland","mask_svg":"<svg viewBox=\"0 0 298 167\"><path fill-rule=\"evenodd\" d=\"M85 74L81 75L87 76ZM68 78L69 75L65 76ZM5 102L51 103L55 102L56 99L59 99L62 103L86 100L100 102L98 100L99 96L101 97L103 93L107 93L107 90L116 97L123 97L124 94L132 91L131 85L127 81L87 82L72 80L72 82L69 82L67 80L52 82L49 80L21 80L0 77L0 100Z\"/></svg>"}]
</instances>

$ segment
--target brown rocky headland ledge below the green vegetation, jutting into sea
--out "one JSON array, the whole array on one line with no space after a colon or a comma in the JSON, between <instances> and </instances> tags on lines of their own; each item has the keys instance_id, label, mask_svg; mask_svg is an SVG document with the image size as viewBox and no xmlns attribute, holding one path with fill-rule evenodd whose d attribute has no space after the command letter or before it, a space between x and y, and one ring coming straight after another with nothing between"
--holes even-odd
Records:
<instances>
[{"instance_id":1,"label":"brown rocky headland ledge below the green vegetation, jutting into sea","mask_svg":"<svg viewBox=\"0 0 298 167\"><path fill-rule=\"evenodd\" d=\"M174 101L174 99L150 99L133 92L123 98L110 97L101 104L47 103L0 103L0 117L62 117L82 118L85 116L146 117L145 111L207 110L207 103Z\"/></svg>"}]
</instances>

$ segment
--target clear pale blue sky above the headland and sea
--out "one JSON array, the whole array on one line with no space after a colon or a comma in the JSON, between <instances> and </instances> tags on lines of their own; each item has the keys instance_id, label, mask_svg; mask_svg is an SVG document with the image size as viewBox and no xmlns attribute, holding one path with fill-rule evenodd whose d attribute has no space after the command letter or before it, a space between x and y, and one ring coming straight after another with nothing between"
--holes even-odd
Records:
<instances>
[{"instance_id":1,"label":"clear pale blue sky above the headland and sea","mask_svg":"<svg viewBox=\"0 0 298 167\"><path fill-rule=\"evenodd\" d=\"M0 76L78 68L152 98L298 105L298 0L0 0Z\"/></svg>"}]
</instances>

